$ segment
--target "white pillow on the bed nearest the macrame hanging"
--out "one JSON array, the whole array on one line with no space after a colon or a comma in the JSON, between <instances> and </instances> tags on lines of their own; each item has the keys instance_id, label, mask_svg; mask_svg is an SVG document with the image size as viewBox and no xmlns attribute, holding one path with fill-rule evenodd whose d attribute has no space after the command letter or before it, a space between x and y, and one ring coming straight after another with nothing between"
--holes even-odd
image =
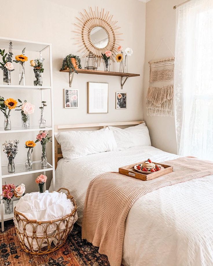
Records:
<instances>
[{"instance_id":1,"label":"white pillow on the bed nearest the macrame hanging","mask_svg":"<svg viewBox=\"0 0 213 266\"><path fill-rule=\"evenodd\" d=\"M118 150L142 145L151 146L149 131L145 123L125 129L110 126L108 128L114 134Z\"/></svg>"}]
</instances>

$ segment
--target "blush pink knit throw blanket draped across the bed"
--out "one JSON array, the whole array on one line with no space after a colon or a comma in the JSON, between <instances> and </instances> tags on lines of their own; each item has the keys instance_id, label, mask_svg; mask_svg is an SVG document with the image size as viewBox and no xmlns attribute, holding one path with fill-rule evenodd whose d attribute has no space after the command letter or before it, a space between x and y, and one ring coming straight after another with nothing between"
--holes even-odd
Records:
<instances>
[{"instance_id":1,"label":"blush pink knit throw blanket draped across the bed","mask_svg":"<svg viewBox=\"0 0 213 266\"><path fill-rule=\"evenodd\" d=\"M115 172L102 173L89 184L82 222L82 239L99 247L111 266L120 266L125 222L133 203L146 193L213 174L213 162L183 157L164 162L173 172L142 181Z\"/></svg>"}]
</instances>

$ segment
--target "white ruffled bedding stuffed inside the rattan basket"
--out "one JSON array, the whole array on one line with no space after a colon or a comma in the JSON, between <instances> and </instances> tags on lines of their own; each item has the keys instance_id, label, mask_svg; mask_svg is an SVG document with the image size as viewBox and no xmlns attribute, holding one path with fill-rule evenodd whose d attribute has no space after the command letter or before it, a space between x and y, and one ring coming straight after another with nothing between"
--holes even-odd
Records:
<instances>
[{"instance_id":1,"label":"white ruffled bedding stuffed inside the rattan basket","mask_svg":"<svg viewBox=\"0 0 213 266\"><path fill-rule=\"evenodd\" d=\"M35 219L37 221L56 220L61 217L65 217L66 215L70 214L73 210L74 206L72 202L69 199L67 199L67 195L65 193L62 192L58 193L56 191L49 193L48 190L46 190L44 193L39 193L39 192L27 193L23 197L21 197L19 199L19 202L16 204L16 211L18 211L19 213L23 213L23 215L25 215L28 219ZM76 212L75 218L71 217L69 219L68 228L71 227L73 223L76 222L77 219L78 215ZM23 233L24 225L26 226L26 234L28 236L28 239L30 238L30 242L32 241L33 249L38 250L38 245L41 244L41 239L38 239L38 243L36 239L34 239L33 226L36 228L37 237L42 237L46 229L47 236L48 237L52 236L52 239L49 238L49 240L51 239L53 243L56 245L59 241L58 235L56 235L56 227L59 226L60 232L62 232L65 229L68 218L65 219L65 221L63 222L58 221L56 223L53 223L49 225L47 228L45 228L43 224L41 225L35 223L32 223L32 225L30 223L23 224L22 221L18 223L15 217L13 220L15 226L18 228L20 233ZM26 237L24 241L25 245L29 247ZM42 247L45 246L47 246L47 243L43 241Z\"/></svg>"}]
</instances>

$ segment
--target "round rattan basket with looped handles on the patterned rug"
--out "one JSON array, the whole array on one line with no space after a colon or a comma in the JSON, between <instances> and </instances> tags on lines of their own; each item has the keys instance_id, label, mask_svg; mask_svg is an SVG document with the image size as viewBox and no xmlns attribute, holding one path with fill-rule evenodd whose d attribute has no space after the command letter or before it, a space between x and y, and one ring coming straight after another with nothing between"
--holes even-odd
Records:
<instances>
[{"instance_id":1,"label":"round rattan basket with looped handles on the patterned rug","mask_svg":"<svg viewBox=\"0 0 213 266\"><path fill-rule=\"evenodd\" d=\"M73 199L73 197L69 194L68 189L60 188L58 189L57 192L59 192L60 190L66 190L68 193L67 199L70 199L71 202L73 202L74 204L74 210L69 215L66 215L65 217L61 217L59 219L52 220L52 221L37 221L33 219L28 219L22 213L17 212L16 207L14 208L14 217L16 221L18 222L18 224L22 223L23 225L22 226L23 230L21 230L23 232L20 232L19 228L17 228L16 226L15 228L16 228L17 236L19 237L19 241L21 243L21 248L25 252L30 253L30 254L35 254L35 255L48 254L48 253L54 252L55 250L58 250L61 246L64 245L65 241L67 240L67 237L73 228L74 219L75 219L76 210L77 210L77 204L75 200ZM65 226L65 229L63 230L60 229L61 223L64 223L64 226ZM55 227L54 234L48 233L48 228L50 225L52 228ZM27 235L26 226L32 226L31 235ZM42 230L43 230L42 236L37 236L36 234L36 230L38 229L38 226L42 226ZM41 228L40 228L40 231L41 231ZM36 249L33 248L35 243L37 246Z\"/></svg>"}]
</instances>

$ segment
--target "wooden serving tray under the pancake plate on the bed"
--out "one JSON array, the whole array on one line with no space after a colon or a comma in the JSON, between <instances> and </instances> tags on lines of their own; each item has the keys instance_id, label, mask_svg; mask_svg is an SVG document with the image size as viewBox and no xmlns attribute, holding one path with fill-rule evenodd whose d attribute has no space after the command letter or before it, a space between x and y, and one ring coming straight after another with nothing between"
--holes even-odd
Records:
<instances>
[{"instance_id":1,"label":"wooden serving tray under the pancake plate on the bed","mask_svg":"<svg viewBox=\"0 0 213 266\"><path fill-rule=\"evenodd\" d=\"M143 162L145 162L145 161L143 161ZM157 172L154 172L154 173L139 173L134 169L134 166L139 165L140 163L142 164L143 162L137 162L137 163L134 163L132 165L120 167L118 172L122 175L125 175L125 176L130 176L130 177L137 178L137 179L140 179L143 181L147 181L147 180L157 178L159 176L164 176L164 175L171 173L173 171L173 166L164 165L164 164L159 163L159 162L153 162L157 165L162 165L164 167L164 169L157 171Z\"/></svg>"}]
</instances>

